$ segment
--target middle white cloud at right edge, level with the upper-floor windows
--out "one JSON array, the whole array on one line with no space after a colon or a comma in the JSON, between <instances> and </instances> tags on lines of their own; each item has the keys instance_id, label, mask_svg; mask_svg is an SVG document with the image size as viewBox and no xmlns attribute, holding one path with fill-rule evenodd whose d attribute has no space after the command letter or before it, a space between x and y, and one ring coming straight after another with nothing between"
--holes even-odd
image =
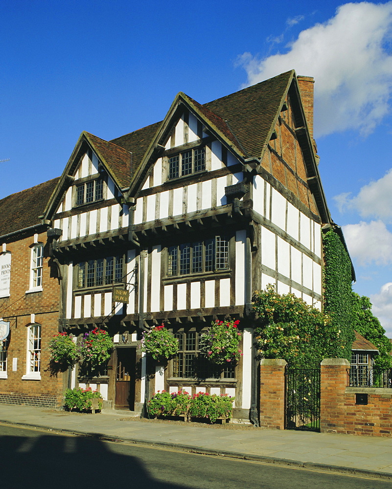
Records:
<instances>
[{"instance_id":1,"label":"middle white cloud at right edge, level with the upper-floor windows","mask_svg":"<svg viewBox=\"0 0 392 489\"><path fill-rule=\"evenodd\" d=\"M392 219L392 169L379 180L361 188L357 196L344 193L334 197L340 212L354 209L361 217Z\"/></svg>"}]
</instances>

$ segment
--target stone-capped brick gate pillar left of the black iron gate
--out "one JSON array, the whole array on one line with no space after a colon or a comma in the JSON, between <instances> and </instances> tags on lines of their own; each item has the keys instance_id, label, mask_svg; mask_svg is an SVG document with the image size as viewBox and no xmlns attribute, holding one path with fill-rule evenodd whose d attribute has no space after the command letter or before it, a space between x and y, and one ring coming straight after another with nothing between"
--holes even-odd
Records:
<instances>
[{"instance_id":1,"label":"stone-capped brick gate pillar left of the black iron gate","mask_svg":"<svg viewBox=\"0 0 392 489\"><path fill-rule=\"evenodd\" d=\"M286 365L286 360L281 358L260 361L260 426L264 428L285 427Z\"/></svg>"}]
</instances>

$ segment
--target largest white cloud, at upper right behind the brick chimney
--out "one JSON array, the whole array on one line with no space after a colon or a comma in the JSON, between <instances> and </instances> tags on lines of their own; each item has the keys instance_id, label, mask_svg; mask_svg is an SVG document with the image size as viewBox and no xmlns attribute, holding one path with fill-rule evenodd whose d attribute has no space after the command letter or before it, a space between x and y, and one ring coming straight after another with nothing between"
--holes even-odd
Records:
<instances>
[{"instance_id":1,"label":"largest white cloud, at upper right behind the brick chimney","mask_svg":"<svg viewBox=\"0 0 392 489\"><path fill-rule=\"evenodd\" d=\"M290 22L290 21L288 21ZM315 134L370 133L392 91L392 2L346 3L335 17L300 32L285 54L239 57L249 85L294 68L315 78Z\"/></svg>"}]
</instances>

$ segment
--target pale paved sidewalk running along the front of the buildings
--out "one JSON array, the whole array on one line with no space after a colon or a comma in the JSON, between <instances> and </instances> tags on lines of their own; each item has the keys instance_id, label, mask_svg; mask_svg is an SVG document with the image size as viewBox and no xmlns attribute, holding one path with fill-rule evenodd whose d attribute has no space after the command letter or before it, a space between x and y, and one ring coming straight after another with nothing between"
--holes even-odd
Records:
<instances>
[{"instance_id":1,"label":"pale paved sidewalk running along the front of the buildings","mask_svg":"<svg viewBox=\"0 0 392 489\"><path fill-rule=\"evenodd\" d=\"M392 480L392 438L140 422L129 412L75 414L0 404L0 421L198 453L366 474ZM128 415L128 416L127 416ZM0 426L1 435L1 426Z\"/></svg>"}]
</instances>

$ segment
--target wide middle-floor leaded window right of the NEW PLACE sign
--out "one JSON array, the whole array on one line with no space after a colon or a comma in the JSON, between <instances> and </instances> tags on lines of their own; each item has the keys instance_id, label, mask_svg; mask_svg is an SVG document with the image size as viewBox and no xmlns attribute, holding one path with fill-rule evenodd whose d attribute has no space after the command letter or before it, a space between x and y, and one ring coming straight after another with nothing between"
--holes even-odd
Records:
<instances>
[{"instance_id":1,"label":"wide middle-floor leaded window right of the NEW PLACE sign","mask_svg":"<svg viewBox=\"0 0 392 489\"><path fill-rule=\"evenodd\" d=\"M221 236L170 246L167 254L167 274L170 276L229 268L229 240Z\"/></svg>"}]
</instances>

